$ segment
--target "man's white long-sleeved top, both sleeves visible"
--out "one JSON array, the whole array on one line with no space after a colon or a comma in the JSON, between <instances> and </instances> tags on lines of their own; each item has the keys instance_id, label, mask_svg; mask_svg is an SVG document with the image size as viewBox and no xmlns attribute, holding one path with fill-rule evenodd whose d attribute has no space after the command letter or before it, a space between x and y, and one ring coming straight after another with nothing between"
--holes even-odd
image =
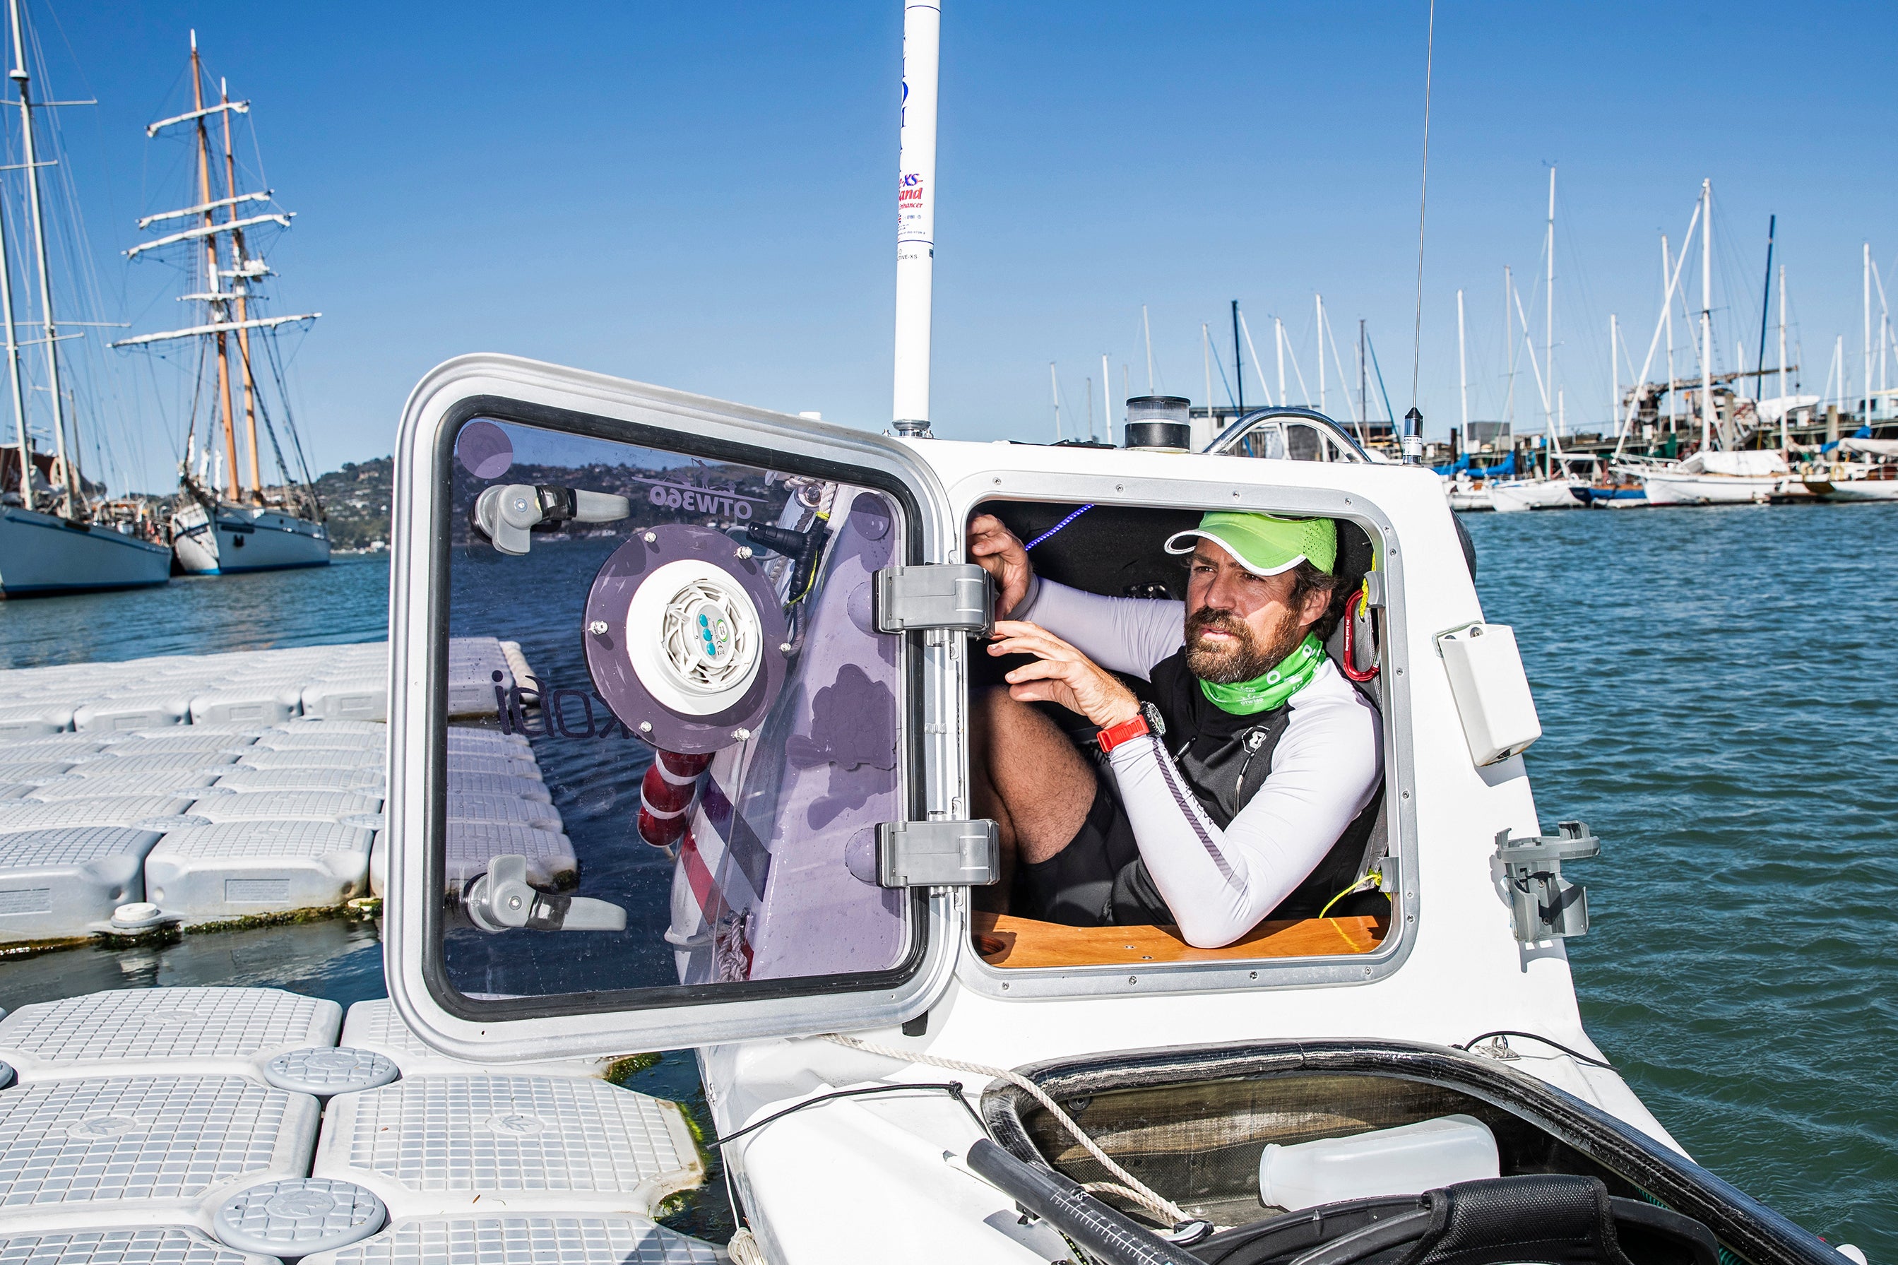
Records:
<instances>
[{"instance_id":1,"label":"man's white long-sleeved top, both sleeves visible","mask_svg":"<svg viewBox=\"0 0 1898 1265\"><path fill-rule=\"evenodd\" d=\"M1184 645L1186 609L1036 577L1008 618L1040 624L1095 664L1144 679ZM1160 738L1135 738L1108 755L1141 857L1188 944L1219 948L1258 926L1376 795L1378 713L1330 660L1293 694L1291 709L1272 772L1224 831Z\"/></svg>"}]
</instances>

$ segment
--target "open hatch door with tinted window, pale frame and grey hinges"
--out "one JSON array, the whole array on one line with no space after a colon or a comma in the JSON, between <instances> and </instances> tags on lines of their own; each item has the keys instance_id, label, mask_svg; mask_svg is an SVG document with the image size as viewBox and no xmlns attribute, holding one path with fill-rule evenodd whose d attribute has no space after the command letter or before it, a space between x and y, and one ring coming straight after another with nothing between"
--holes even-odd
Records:
<instances>
[{"instance_id":1,"label":"open hatch door with tinted window, pale frame and grey hinges","mask_svg":"<svg viewBox=\"0 0 1898 1265\"><path fill-rule=\"evenodd\" d=\"M993 599L930 565L958 525L905 444L467 357L408 402L391 544L385 958L431 1045L867 1028L947 986Z\"/></svg>"}]
</instances>

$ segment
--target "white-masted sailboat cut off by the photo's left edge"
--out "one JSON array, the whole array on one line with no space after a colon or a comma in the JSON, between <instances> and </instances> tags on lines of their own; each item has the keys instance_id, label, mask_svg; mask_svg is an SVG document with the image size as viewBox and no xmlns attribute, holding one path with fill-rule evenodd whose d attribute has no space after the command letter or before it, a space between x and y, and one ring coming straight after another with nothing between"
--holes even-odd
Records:
<instances>
[{"instance_id":1,"label":"white-masted sailboat cut off by the photo's left edge","mask_svg":"<svg viewBox=\"0 0 1898 1265\"><path fill-rule=\"evenodd\" d=\"M32 80L27 72L23 15L9 0L8 17L13 66L8 78L19 87L21 156L27 209L32 222L32 258L38 266L40 330L46 349L44 389L51 406L53 451L34 451L21 366L21 336L13 311L13 256L0 214L0 322L6 326L8 391L13 400L13 444L0 448L0 596L74 594L102 588L144 588L171 578L171 552L158 541L148 506L108 503L104 487L87 480L74 453L80 449L78 417L68 415L70 396L61 385L59 334L66 324L53 317L53 283L46 250L46 214L40 197L38 146L34 137ZM25 277L25 264L21 273Z\"/></svg>"}]
</instances>

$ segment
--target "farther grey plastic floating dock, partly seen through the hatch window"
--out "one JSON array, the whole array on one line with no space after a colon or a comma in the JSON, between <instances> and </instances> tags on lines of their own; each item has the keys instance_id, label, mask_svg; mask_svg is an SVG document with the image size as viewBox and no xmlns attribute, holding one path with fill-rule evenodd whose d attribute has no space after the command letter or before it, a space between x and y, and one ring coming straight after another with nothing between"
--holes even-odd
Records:
<instances>
[{"instance_id":1,"label":"farther grey plastic floating dock, partly seen through the hatch window","mask_svg":"<svg viewBox=\"0 0 1898 1265\"><path fill-rule=\"evenodd\" d=\"M0 944L342 907L372 893L387 791L387 647L0 671ZM450 709L492 719L520 647L450 641ZM526 738L452 724L448 882L518 852L579 861ZM380 895L380 874L374 895Z\"/></svg>"}]
</instances>

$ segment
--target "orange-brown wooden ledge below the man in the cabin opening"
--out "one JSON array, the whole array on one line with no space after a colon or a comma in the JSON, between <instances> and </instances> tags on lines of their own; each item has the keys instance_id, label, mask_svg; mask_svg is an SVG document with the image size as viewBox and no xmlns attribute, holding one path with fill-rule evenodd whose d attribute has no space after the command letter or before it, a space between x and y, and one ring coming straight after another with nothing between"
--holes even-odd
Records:
<instances>
[{"instance_id":1,"label":"orange-brown wooden ledge below the man in the cabin opening","mask_svg":"<svg viewBox=\"0 0 1898 1265\"><path fill-rule=\"evenodd\" d=\"M1245 958L1334 958L1384 943L1387 918L1262 922L1224 948L1194 948L1177 927L1065 927L1010 914L974 916L976 952L998 967L1141 965Z\"/></svg>"}]
</instances>

